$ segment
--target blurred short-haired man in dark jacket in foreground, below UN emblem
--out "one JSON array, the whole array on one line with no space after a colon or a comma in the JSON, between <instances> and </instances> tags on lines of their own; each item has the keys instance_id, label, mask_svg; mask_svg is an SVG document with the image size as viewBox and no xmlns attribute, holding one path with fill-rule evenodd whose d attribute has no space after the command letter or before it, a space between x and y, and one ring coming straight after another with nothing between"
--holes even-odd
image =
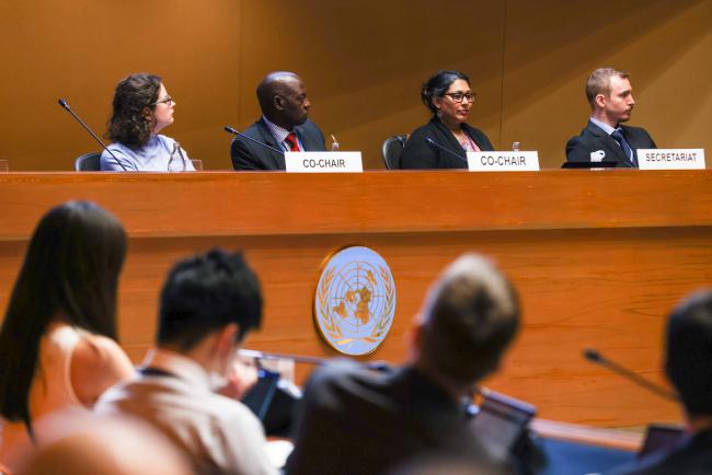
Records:
<instances>
[{"instance_id":1,"label":"blurred short-haired man in dark jacket in foreground, below UN emblem","mask_svg":"<svg viewBox=\"0 0 712 475\"><path fill-rule=\"evenodd\" d=\"M506 468L472 432L461 403L496 371L518 327L506 277L480 256L460 257L430 289L405 366L376 373L341 360L312 374L287 473L381 474L430 453Z\"/></svg>"}]
</instances>

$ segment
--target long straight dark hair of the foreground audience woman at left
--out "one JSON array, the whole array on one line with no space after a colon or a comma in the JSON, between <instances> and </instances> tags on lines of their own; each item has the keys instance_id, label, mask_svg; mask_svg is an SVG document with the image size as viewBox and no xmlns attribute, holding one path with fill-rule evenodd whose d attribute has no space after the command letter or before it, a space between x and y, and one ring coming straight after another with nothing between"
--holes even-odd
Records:
<instances>
[{"instance_id":1,"label":"long straight dark hair of the foreground audience woman at left","mask_svg":"<svg viewBox=\"0 0 712 475\"><path fill-rule=\"evenodd\" d=\"M0 329L0 414L32 436L30 390L53 321L116 339L116 290L126 233L96 205L69 201L35 229Z\"/></svg>"}]
</instances>

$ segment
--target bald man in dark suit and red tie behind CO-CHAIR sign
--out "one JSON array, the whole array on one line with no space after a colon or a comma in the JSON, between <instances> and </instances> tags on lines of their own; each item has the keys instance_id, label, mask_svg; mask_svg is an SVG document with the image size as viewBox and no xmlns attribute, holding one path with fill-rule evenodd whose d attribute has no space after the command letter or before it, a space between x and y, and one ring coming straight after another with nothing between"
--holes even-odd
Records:
<instances>
[{"instance_id":1,"label":"bald man in dark suit and red tie behind CO-CHAIR sign","mask_svg":"<svg viewBox=\"0 0 712 475\"><path fill-rule=\"evenodd\" d=\"M244 135L272 148L236 137L230 147L234 170L285 170L280 151L325 151L324 135L309 120L307 88L294 72L267 74L257 85L262 117Z\"/></svg>"}]
</instances>

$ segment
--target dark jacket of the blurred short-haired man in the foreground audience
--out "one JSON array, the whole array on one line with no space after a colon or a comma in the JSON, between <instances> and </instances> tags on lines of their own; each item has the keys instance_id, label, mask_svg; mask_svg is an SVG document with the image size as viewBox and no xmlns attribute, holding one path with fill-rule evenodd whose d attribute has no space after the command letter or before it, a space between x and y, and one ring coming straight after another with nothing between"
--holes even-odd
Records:
<instances>
[{"instance_id":1,"label":"dark jacket of the blurred short-haired man in the foreground audience","mask_svg":"<svg viewBox=\"0 0 712 475\"><path fill-rule=\"evenodd\" d=\"M288 475L386 474L434 451L506 465L484 449L452 397L409 367L374 373L336 360L318 368L298 404L294 435Z\"/></svg>"}]
</instances>

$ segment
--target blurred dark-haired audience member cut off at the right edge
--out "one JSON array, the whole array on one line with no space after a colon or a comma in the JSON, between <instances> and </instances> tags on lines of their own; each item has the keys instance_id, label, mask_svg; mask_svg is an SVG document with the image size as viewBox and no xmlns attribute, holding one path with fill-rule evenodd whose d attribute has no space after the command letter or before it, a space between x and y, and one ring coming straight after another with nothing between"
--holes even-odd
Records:
<instances>
[{"instance_id":1,"label":"blurred dark-haired audience member cut off at the right edge","mask_svg":"<svg viewBox=\"0 0 712 475\"><path fill-rule=\"evenodd\" d=\"M670 452L616 474L712 473L712 290L688 297L673 311L665 338L665 372L680 395L688 435Z\"/></svg>"}]
</instances>

